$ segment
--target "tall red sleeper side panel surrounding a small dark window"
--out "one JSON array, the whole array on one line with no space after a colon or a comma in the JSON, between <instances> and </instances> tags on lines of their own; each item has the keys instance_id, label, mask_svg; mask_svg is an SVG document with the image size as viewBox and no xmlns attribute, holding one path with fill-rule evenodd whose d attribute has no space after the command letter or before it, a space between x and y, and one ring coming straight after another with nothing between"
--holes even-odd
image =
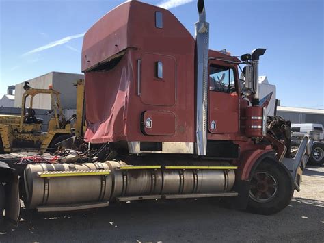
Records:
<instances>
[{"instance_id":1,"label":"tall red sleeper side panel surrounding a small dark window","mask_svg":"<svg viewBox=\"0 0 324 243\"><path fill-rule=\"evenodd\" d=\"M162 78L157 77L157 62L163 64ZM174 57L154 53L142 55L141 101L146 105L172 106L176 103L176 60Z\"/></svg>"}]
</instances>

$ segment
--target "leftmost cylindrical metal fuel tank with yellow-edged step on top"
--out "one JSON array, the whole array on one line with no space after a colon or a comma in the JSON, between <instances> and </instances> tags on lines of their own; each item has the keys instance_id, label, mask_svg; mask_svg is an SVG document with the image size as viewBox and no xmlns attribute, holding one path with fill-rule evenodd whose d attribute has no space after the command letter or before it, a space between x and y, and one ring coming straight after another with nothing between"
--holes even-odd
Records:
<instances>
[{"instance_id":1,"label":"leftmost cylindrical metal fuel tank with yellow-edged step on top","mask_svg":"<svg viewBox=\"0 0 324 243\"><path fill-rule=\"evenodd\" d=\"M25 169L27 208L109 201L111 177L105 163L37 164Z\"/></svg>"}]
</instances>

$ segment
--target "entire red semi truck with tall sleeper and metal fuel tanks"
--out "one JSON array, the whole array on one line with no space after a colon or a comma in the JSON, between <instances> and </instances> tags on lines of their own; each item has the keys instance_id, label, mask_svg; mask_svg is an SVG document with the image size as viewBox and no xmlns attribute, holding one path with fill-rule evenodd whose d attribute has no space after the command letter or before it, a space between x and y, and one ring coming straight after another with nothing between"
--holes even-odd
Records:
<instances>
[{"instance_id":1,"label":"entire red semi truck with tall sleeper and metal fuel tanks","mask_svg":"<svg viewBox=\"0 0 324 243\"><path fill-rule=\"evenodd\" d=\"M100 149L87 163L3 164L6 218L17 221L19 198L38 212L222 197L274 214L290 203L312 140L289 157L290 123L267 118L259 105L265 49L240 58L208 49L203 0L198 13L195 38L168 10L139 1L119 5L87 31L84 139Z\"/></svg>"}]
</instances>

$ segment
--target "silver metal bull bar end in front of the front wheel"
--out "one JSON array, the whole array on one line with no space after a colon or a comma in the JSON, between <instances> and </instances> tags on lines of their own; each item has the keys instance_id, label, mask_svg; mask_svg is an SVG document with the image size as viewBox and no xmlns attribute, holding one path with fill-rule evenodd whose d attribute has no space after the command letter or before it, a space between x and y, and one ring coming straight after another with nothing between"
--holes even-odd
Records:
<instances>
[{"instance_id":1,"label":"silver metal bull bar end in front of the front wheel","mask_svg":"<svg viewBox=\"0 0 324 243\"><path fill-rule=\"evenodd\" d=\"M313 142L314 140L312 138L303 138L295 157L293 159L282 159L282 164L291 172L295 189L298 192L300 191L301 175L306 167L308 157L310 157Z\"/></svg>"}]
</instances>

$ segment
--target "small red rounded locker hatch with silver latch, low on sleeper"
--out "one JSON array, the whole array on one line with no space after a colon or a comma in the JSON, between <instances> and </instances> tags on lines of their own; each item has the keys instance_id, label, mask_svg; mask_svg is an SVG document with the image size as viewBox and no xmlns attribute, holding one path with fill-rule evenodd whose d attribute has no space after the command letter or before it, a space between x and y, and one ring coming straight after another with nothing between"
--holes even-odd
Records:
<instances>
[{"instance_id":1,"label":"small red rounded locker hatch with silver latch, low on sleeper","mask_svg":"<svg viewBox=\"0 0 324 243\"><path fill-rule=\"evenodd\" d=\"M151 120L151 127L146 120ZM143 131L146 135L172 136L176 133L176 116L172 112L146 111L143 114Z\"/></svg>"}]
</instances>

